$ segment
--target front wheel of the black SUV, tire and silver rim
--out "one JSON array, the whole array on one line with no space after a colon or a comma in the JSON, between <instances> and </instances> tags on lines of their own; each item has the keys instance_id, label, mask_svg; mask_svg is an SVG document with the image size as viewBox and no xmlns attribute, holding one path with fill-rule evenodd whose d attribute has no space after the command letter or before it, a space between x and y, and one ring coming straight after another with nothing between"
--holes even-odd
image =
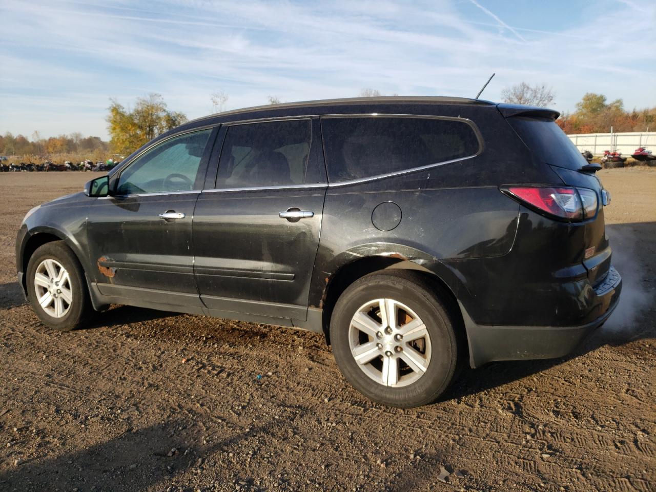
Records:
<instances>
[{"instance_id":1,"label":"front wheel of the black SUV, tire and silver rim","mask_svg":"<svg viewBox=\"0 0 656 492\"><path fill-rule=\"evenodd\" d=\"M52 241L37 248L27 270L28 300L41 323L70 331L91 317L93 308L82 266L64 241ZM47 294L49 298L45 297ZM39 299L46 303L45 307Z\"/></svg>"}]
</instances>

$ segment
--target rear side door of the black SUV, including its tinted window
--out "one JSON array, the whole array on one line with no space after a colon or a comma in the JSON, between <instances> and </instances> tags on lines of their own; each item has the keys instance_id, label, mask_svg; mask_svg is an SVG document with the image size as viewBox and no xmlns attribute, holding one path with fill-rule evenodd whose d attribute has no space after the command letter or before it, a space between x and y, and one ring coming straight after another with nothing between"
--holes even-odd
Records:
<instances>
[{"instance_id":1,"label":"rear side door of the black SUV, including its tinted window","mask_svg":"<svg viewBox=\"0 0 656 492\"><path fill-rule=\"evenodd\" d=\"M318 119L228 123L222 135L194 213L201 300L215 316L305 320L327 187Z\"/></svg>"}]
</instances>

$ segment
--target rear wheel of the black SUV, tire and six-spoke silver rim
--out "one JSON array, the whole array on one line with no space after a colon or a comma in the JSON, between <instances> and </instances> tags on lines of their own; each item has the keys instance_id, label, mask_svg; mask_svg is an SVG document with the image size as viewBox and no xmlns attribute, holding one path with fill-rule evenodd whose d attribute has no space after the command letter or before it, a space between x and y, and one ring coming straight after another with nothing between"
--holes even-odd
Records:
<instances>
[{"instance_id":1,"label":"rear wheel of the black SUV, tire and six-spoke silver rim","mask_svg":"<svg viewBox=\"0 0 656 492\"><path fill-rule=\"evenodd\" d=\"M438 293L440 287L409 270L369 274L342 293L331 316L330 338L337 365L356 390L401 408L432 403L445 392L457 372L462 342L458 318ZM398 323L384 322L384 308L395 312ZM414 338L422 333L427 336Z\"/></svg>"}]
</instances>

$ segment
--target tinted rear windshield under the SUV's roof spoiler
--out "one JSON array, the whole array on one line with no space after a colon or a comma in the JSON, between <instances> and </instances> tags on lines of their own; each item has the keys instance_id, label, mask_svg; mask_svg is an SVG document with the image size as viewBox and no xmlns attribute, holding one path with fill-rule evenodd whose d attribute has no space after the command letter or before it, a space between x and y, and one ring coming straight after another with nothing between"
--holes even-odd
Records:
<instances>
[{"instance_id":1,"label":"tinted rear windshield under the SUV's roof spoiler","mask_svg":"<svg viewBox=\"0 0 656 492\"><path fill-rule=\"evenodd\" d=\"M508 123L541 161L575 171L588 163L553 120L510 117Z\"/></svg>"}]
</instances>

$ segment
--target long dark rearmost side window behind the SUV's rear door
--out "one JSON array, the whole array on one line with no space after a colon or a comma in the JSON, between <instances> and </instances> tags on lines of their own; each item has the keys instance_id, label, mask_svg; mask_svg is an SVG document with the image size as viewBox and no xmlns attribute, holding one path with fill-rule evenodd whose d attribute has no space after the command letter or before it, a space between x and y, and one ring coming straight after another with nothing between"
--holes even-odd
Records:
<instances>
[{"instance_id":1,"label":"long dark rearmost side window behind the SUV's rear door","mask_svg":"<svg viewBox=\"0 0 656 492\"><path fill-rule=\"evenodd\" d=\"M422 117L322 117L331 182L405 171L478 154L472 125Z\"/></svg>"}]
</instances>

